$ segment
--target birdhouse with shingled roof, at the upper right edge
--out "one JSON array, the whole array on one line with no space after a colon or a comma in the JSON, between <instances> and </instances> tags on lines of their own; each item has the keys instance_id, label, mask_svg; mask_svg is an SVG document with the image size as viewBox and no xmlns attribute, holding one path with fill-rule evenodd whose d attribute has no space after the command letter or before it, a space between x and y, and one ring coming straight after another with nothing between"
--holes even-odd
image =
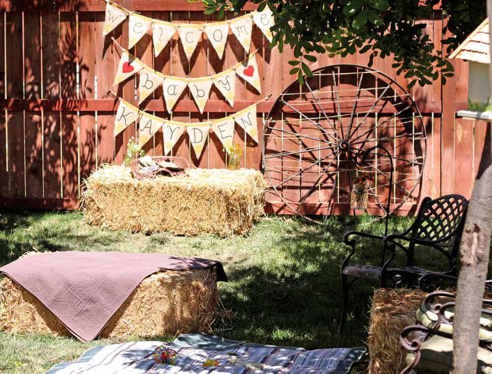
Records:
<instances>
[{"instance_id":1,"label":"birdhouse with shingled roof, at the upper right edge","mask_svg":"<svg viewBox=\"0 0 492 374\"><path fill-rule=\"evenodd\" d=\"M468 60L468 100L467 111L459 111L462 117L492 120L490 109L490 46L489 19L480 24L449 58Z\"/></svg>"}]
</instances>

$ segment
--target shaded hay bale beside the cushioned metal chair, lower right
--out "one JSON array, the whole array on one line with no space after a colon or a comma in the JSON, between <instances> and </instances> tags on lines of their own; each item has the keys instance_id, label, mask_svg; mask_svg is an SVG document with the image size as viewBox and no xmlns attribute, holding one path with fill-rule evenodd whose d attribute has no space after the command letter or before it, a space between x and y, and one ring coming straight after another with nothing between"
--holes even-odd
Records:
<instances>
[{"instance_id":1,"label":"shaded hay bale beside the cushioned metal chair, lower right","mask_svg":"<svg viewBox=\"0 0 492 374\"><path fill-rule=\"evenodd\" d=\"M368 340L369 374L398 374L403 370L406 352L400 345L400 333L416 323L415 313L428 294L421 289L404 288L374 291ZM492 296L491 291L485 294L487 298Z\"/></svg>"}]
</instances>

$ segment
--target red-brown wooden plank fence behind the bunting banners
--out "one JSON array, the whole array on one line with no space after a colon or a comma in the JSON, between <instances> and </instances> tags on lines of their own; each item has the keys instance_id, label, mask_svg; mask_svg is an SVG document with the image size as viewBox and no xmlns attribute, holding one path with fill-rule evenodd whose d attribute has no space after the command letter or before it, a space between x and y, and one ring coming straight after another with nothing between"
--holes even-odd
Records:
<instances>
[{"instance_id":1,"label":"red-brown wooden plank fence behind the bunting banners","mask_svg":"<svg viewBox=\"0 0 492 374\"><path fill-rule=\"evenodd\" d=\"M201 2L185 0L123 0L121 4L153 18L203 23L215 16L203 14ZM0 1L0 206L35 208L73 208L83 180L103 163L123 162L125 144L135 136L130 126L113 138L113 122L118 102L108 94L119 62L120 50L128 40L128 26L123 23L103 37L103 0L72 1ZM252 10L248 5L245 10ZM228 14L227 17L233 17ZM422 20L426 32L441 48L443 20ZM270 50L261 31L253 27L251 50L259 48L258 68L263 93L270 100L258 106L258 132L262 120L278 94L294 80L289 75L293 58L288 48L282 54ZM190 62L187 61L177 35L165 50L154 58L151 36L146 35L131 52L150 67L164 74L199 77L220 72L246 57L237 39L229 35L224 58L219 60L203 36ZM312 68L332 63L367 65L368 54L347 58L319 56ZM405 86L397 77L391 58L375 59L374 67ZM411 90L428 129L427 165L421 196L461 193L470 196L480 156L485 144L486 126L456 118L466 108L468 66L454 61L456 74L445 86ZM135 103L135 76L118 87L118 94ZM258 101L262 95L246 86L236 85L234 108L221 99L213 88L203 115L186 93L172 118L179 121L203 121L234 113ZM154 92L145 108L155 115L169 118L164 111L162 89ZM238 127L236 126L236 131ZM245 133L237 140L245 147L241 166L258 169L261 144L246 145ZM238 139L239 138L239 139ZM158 132L145 146L151 155L160 155L162 133ZM187 136L176 144L173 154L186 157L202 168L224 168L225 153L214 134L200 159L190 151ZM279 199L270 195L269 211L283 211Z\"/></svg>"}]
</instances>

